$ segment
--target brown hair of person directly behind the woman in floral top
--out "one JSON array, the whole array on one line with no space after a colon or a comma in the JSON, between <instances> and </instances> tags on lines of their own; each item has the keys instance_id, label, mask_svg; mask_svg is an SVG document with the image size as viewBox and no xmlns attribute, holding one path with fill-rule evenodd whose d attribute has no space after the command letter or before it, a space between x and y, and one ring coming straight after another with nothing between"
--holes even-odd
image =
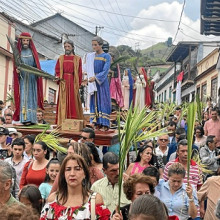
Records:
<instances>
[{"instance_id":1,"label":"brown hair of person directly behind the woman in floral top","mask_svg":"<svg viewBox=\"0 0 220 220\"><path fill-rule=\"evenodd\" d=\"M73 148L75 154L78 154L84 158L88 167L92 165L91 151L86 144L73 142L69 144L68 148L69 147Z\"/></svg>"}]
</instances>

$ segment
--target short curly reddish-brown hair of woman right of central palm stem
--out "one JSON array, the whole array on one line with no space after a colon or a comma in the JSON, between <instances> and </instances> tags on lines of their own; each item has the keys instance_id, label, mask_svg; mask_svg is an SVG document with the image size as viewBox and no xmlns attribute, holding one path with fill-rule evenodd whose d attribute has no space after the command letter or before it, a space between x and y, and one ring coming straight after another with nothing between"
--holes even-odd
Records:
<instances>
[{"instance_id":1,"label":"short curly reddish-brown hair of woman right of central palm stem","mask_svg":"<svg viewBox=\"0 0 220 220\"><path fill-rule=\"evenodd\" d=\"M154 194L154 184L150 177L137 173L130 176L123 184L123 190L128 200L131 200L135 193L137 183L145 183L149 186L151 194Z\"/></svg>"}]
</instances>

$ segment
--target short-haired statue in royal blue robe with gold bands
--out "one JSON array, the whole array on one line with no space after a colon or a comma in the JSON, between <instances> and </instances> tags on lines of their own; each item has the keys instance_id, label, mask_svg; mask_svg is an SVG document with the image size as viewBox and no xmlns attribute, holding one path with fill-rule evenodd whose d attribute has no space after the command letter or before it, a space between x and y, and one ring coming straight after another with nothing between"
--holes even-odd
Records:
<instances>
[{"instance_id":1,"label":"short-haired statue in royal blue robe with gold bands","mask_svg":"<svg viewBox=\"0 0 220 220\"><path fill-rule=\"evenodd\" d=\"M111 57L102 49L103 40L94 37L92 47L94 54L94 76L88 78L88 82L95 82L97 91L90 96L90 123L97 128L107 131L110 127L111 97L108 82L108 73ZM87 73L88 76L90 75Z\"/></svg>"}]
</instances>

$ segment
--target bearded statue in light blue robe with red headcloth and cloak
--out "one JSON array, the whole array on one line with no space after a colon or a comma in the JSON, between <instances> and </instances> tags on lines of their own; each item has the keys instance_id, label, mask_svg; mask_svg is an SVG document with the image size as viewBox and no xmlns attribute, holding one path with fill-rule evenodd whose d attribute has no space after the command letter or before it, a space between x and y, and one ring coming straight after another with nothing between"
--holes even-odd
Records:
<instances>
[{"instance_id":1,"label":"bearded statue in light blue robe with red headcloth and cloak","mask_svg":"<svg viewBox=\"0 0 220 220\"><path fill-rule=\"evenodd\" d=\"M22 63L40 69L37 50L29 33L21 33L17 49ZM16 64L13 75L15 101L13 120L20 120L23 124L36 124L37 107L43 109L42 78L30 72L20 71Z\"/></svg>"}]
</instances>

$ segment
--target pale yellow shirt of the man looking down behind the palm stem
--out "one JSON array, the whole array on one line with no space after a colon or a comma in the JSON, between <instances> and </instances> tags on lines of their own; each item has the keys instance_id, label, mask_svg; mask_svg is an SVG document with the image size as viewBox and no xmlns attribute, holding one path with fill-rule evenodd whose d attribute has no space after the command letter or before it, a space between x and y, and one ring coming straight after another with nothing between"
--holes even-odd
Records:
<instances>
[{"instance_id":1,"label":"pale yellow shirt of the man looking down behind the palm stem","mask_svg":"<svg viewBox=\"0 0 220 220\"><path fill-rule=\"evenodd\" d=\"M96 181L92 185L91 190L99 193L102 196L104 205L110 210L110 212L113 212L116 209L118 205L118 184L115 184L114 187L112 187L112 184L108 181L108 178L104 177ZM126 199L126 196L122 189L120 206L123 207L130 203L131 201Z\"/></svg>"}]
</instances>

